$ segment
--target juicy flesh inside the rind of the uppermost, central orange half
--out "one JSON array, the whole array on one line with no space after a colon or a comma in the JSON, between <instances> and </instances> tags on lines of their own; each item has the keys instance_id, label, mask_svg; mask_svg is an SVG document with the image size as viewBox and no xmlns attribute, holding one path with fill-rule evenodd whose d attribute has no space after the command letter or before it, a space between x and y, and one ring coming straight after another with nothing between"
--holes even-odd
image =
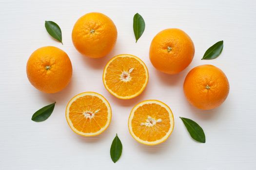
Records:
<instances>
[{"instance_id":1,"label":"juicy flesh inside the rind of the uppermost, central orange half","mask_svg":"<svg viewBox=\"0 0 256 170\"><path fill-rule=\"evenodd\" d=\"M122 81L123 71L128 73L131 68L134 69L129 73L130 81ZM123 74L124 78L129 76ZM108 65L105 80L108 88L118 96L131 96L138 93L146 83L146 70L135 58L118 57Z\"/></svg>"}]
</instances>

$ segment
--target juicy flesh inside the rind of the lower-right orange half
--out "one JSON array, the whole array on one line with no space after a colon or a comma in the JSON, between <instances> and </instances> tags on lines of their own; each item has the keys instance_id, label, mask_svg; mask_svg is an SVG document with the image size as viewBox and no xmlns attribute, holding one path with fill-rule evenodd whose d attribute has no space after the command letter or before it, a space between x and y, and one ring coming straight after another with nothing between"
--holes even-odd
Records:
<instances>
[{"instance_id":1,"label":"juicy flesh inside the rind of the lower-right orange half","mask_svg":"<svg viewBox=\"0 0 256 170\"><path fill-rule=\"evenodd\" d=\"M157 122L153 126L141 125L146 122L148 116L161 122ZM132 130L135 136L145 141L156 141L166 135L171 127L168 111L159 104L144 104L134 112L132 119Z\"/></svg>"}]
</instances>

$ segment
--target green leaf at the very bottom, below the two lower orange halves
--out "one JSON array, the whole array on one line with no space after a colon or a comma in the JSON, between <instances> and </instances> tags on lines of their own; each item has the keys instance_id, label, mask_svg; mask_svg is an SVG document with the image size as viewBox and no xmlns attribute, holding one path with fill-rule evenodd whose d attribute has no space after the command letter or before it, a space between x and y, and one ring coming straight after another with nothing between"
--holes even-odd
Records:
<instances>
[{"instance_id":1,"label":"green leaf at the very bottom, below the two lower orange halves","mask_svg":"<svg viewBox=\"0 0 256 170\"><path fill-rule=\"evenodd\" d=\"M112 144L111 144L111 148L110 148L110 156L111 159L114 163L116 163L118 161L118 159L120 158L121 154L122 154L122 143L120 141L120 139L118 138L118 134L116 135L116 137L114 138Z\"/></svg>"}]
</instances>

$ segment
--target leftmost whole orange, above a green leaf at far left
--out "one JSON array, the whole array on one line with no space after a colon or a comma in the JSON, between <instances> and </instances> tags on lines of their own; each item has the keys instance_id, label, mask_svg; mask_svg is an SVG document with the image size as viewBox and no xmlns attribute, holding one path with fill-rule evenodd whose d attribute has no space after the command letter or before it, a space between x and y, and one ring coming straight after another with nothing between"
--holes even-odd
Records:
<instances>
[{"instance_id":1,"label":"leftmost whole orange, above a green leaf at far left","mask_svg":"<svg viewBox=\"0 0 256 170\"><path fill-rule=\"evenodd\" d=\"M46 69L50 66L50 69ZM45 93L57 93L65 88L72 77L72 64L68 55L57 47L41 47L27 61L30 83Z\"/></svg>"}]
</instances>

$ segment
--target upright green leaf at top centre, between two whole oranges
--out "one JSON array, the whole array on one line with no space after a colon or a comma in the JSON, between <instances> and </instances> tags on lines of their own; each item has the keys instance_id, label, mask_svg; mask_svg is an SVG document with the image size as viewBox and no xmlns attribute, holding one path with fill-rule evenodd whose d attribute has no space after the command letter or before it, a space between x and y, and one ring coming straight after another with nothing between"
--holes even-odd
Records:
<instances>
[{"instance_id":1,"label":"upright green leaf at top centre, between two whole oranges","mask_svg":"<svg viewBox=\"0 0 256 170\"><path fill-rule=\"evenodd\" d=\"M136 13L133 17L133 31L136 38L136 42L138 41L138 38L143 34L144 30L144 19L138 13Z\"/></svg>"}]
</instances>

